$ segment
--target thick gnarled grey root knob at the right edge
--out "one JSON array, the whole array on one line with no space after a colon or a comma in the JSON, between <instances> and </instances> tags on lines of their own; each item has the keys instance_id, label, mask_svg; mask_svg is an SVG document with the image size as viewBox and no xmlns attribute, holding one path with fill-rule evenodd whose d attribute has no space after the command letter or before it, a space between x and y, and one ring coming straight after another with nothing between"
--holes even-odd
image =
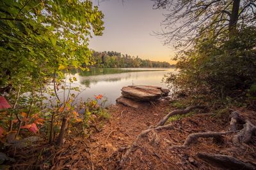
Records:
<instances>
[{"instance_id":1,"label":"thick gnarled grey root knob at the right edge","mask_svg":"<svg viewBox=\"0 0 256 170\"><path fill-rule=\"evenodd\" d=\"M253 125L249 120L246 120L244 128L233 137L233 144L236 146L241 146L241 143L249 143L255 131L256 126Z\"/></svg>"}]
</instances>

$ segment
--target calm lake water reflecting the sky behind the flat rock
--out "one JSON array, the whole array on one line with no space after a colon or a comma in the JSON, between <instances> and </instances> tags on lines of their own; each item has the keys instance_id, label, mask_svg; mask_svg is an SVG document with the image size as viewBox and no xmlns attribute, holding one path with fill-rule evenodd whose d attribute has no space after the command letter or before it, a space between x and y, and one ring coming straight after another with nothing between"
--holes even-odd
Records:
<instances>
[{"instance_id":1,"label":"calm lake water reflecting the sky behind the flat rock","mask_svg":"<svg viewBox=\"0 0 256 170\"><path fill-rule=\"evenodd\" d=\"M106 105L115 104L116 98L121 96L121 89L127 85L155 85L166 88L161 83L164 74L176 73L174 69L152 69L152 68L125 68L125 69L92 69L80 73L73 72L71 77L76 77L77 81L72 83L72 87L79 87L83 92L73 91L79 94L77 99L86 101L95 95L102 94L108 98ZM67 83L69 86L69 83ZM84 90L85 89L85 90ZM58 92L63 99L63 91ZM65 96L67 96L67 91Z\"/></svg>"}]
</instances>

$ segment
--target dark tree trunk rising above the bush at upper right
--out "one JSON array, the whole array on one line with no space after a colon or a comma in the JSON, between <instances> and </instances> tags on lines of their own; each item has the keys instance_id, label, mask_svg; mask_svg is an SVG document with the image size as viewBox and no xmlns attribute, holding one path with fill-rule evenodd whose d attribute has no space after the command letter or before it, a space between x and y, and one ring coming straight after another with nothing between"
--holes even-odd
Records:
<instances>
[{"instance_id":1,"label":"dark tree trunk rising above the bush at upper right","mask_svg":"<svg viewBox=\"0 0 256 170\"><path fill-rule=\"evenodd\" d=\"M228 29L231 35L234 34L234 32L236 32L237 20L239 17L239 7L240 7L240 0L234 0L231 15L230 15L230 21L228 25Z\"/></svg>"}]
</instances>

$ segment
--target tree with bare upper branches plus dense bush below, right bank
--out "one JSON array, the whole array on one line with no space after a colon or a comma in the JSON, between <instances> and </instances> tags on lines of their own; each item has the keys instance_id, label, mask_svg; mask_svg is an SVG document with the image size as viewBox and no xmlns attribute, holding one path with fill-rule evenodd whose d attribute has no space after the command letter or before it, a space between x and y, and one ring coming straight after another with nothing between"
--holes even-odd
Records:
<instances>
[{"instance_id":1,"label":"tree with bare upper branches plus dense bush below, right bank","mask_svg":"<svg viewBox=\"0 0 256 170\"><path fill-rule=\"evenodd\" d=\"M187 47L175 57L180 74L166 76L173 90L245 96L256 82L255 1L156 0L154 7L169 11L159 35Z\"/></svg>"}]
</instances>

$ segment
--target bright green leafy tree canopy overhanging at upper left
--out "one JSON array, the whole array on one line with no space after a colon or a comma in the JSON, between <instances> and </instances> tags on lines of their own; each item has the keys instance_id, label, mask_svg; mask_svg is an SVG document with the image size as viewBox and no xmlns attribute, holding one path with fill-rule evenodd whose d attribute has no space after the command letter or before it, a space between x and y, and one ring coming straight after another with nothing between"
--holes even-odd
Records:
<instances>
[{"instance_id":1,"label":"bright green leafy tree canopy overhanging at upper left","mask_svg":"<svg viewBox=\"0 0 256 170\"><path fill-rule=\"evenodd\" d=\"M102 35L102 18L91 1L1 1L1 92L36 90L52 74L90 65L88 40Z\"/></svg>"}]
</instances>

